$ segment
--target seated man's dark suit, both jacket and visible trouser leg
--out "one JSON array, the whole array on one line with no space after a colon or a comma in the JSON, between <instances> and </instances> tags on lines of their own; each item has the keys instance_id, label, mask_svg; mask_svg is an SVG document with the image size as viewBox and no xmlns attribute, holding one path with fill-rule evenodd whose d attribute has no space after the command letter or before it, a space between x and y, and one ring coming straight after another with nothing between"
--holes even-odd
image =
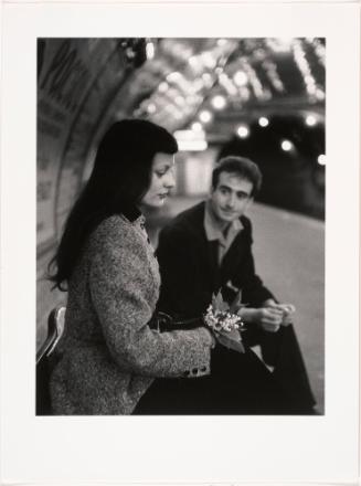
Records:
<instances>
[{"instance_id":1,"label":"seated man's dark suit, both jacket and visible trouser leg","mask_svg":"<svg viewBox=\"0 0 361 486\"><path fill-rule=\"evenodd\" d=\"M208 241L205 235L204 208L201 202L183 211L159 234L159 310L178 318L198 317L220 289L229 302L241 289L242 302L249 307L259 307L267 298L274 298L255 273L249 219L241 216L243 229L220 266L219 242ZM315 400L293 326L267 332L251 325L243 339L249 346L261 345L264 360L275 367L274 376L298 401L300 410L310 410Z\"/></svg>"}]
</instances>

